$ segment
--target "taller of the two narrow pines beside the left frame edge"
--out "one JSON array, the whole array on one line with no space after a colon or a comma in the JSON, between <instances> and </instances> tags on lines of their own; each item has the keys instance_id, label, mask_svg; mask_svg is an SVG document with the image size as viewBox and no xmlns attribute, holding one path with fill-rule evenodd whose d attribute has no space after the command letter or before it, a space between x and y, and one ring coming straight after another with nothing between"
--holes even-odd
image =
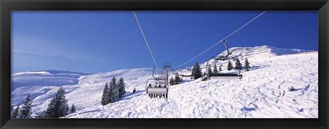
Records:
<instances>
[{"instance_id":1,"label":"taller of the two narrow pines beside the left frame edge","mask_svg":"<svg viewBox=\"0 0 329 129\"><path fill-rule=\"evenodd\" d=\"M22 108L19 111L21 118L31 118L32 115L32 96L29 94L27 95L26 100L23 103Z\"/></svg>"}]
</instances>

